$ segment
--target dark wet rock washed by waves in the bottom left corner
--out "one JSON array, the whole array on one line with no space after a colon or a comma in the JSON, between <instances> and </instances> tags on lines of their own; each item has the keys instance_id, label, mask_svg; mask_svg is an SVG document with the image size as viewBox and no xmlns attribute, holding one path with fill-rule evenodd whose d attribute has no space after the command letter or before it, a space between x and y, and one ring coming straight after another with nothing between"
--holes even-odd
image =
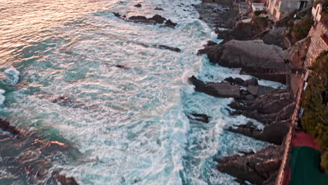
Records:
<instances>
[{"instance_id":1,"label":"dark wet rock washed by waves in the bottom left corner","mask_svg":"<svg viewBox=\"0 0 328 185\"><path fill-rule=\"evenodd\" d=\"M77 184L74 178L53 171L51 163L80 158L82 154L74 146L18 130L2 119L0 128L6 131L0 132L0 168L11 177L8 180L30 184Z\"/></svg>"}]
</instances>

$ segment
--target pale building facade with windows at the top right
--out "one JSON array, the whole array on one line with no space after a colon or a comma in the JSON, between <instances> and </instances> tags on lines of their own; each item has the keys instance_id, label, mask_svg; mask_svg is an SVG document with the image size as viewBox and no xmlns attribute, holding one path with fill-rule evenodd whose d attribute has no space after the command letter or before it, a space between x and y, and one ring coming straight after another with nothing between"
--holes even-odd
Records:
<instances>
[{"instance_id":1,"label":"pale building facade with windows at the top right","mask_svg":"<svg viewBox=\"0 0 328 185\"><path fill-rule=\"evenodd\" d=\"M273 15L275 20L285 18L292 11L301 11L312 6L313 0L268 0L268 13Z\"/></svg>"}]
</instances>

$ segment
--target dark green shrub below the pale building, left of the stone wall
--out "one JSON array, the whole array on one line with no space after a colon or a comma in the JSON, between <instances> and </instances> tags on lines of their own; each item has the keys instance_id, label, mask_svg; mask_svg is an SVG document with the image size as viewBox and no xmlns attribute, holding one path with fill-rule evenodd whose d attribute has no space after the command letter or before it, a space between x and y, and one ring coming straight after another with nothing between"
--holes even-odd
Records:
<instances>
[{"instance_id":1,"label":"dark green shrub below the pale building, left of the stone wall","mask_svg":"<svg viewBox=\"0 0 328 185\"><path fill-rule=\"evenodd\" d=\"M313 23L313 18L311 16L306 16L306 18L303 18L301 22L294 25L294 27L292 27L291 29L293 43L296 43L296 41L300 41L301 39L306 38L306 36L308 36L308 32L310 32Z\"/></svg>"}]
</instances>

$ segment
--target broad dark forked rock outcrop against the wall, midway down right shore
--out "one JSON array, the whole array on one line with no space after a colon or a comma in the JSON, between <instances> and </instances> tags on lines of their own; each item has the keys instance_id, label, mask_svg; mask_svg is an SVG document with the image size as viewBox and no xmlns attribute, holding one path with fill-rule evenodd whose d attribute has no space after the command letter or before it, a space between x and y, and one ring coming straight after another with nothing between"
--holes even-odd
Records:
<instances>
[{"instance_id":1,"label":"broad dark forked rock outcrop against the wall, midway down right shore","mask_svg":"<svg viewBox=\"0 0 328 185\"><path fill-rule=\"evenodd\" d=\"M268 93L271 92L271 93ZM229 107L235 109L231 115L244 115L264 123L264 129L257 129L252 123L228 128L228 131L247 135L264 142L282 144L289 130L290 118L295 109L294 97L290 90L270 90L255 100L235 100Z\"/></svg>"}]
</instances>

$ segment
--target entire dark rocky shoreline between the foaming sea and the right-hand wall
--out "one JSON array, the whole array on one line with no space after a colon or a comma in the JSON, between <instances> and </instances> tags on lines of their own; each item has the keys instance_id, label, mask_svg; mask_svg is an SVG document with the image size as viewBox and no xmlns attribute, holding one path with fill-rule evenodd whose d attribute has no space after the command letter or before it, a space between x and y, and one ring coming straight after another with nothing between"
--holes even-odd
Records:
<instances>
[{"instance_id":1,"label":"entire dark rocky shoreline between the foaming sea and the right-hand wall","mask_svg":"<svg viewBox=\"0 0 328 185\"><path fill-rule=\"evenodd\" d=\"M299 65L299 55L304 55L302 46L308 44L303 41L288 50L285 46L284 36L286 27L273 27L269 22L265 28L259 29L253 23L240 22L236 24L241 13L232 15L229 20L235 22L233 27L220 25L217 22L224 20L224 16L213 15L224 13L218 11L217 4L226 7L224 10L234 10L233 4L226 1L203 1L196 10L201 20L209 23L218 34L221 43L209 41L205 48L198 51L198 55L207 55L212 64L222 67L241 68L240 74L248 74L256 78L244 81L241 78L226 78L219 83L203 82L196 76L189 78L189 83L195 90L214 97L232 97L234 100L228 106L231 116L243 115L264 124L260 130L254 123L234 125L225 128L229 132L252 137L273 145L255 153L233 155L225 158L214 158L217 161L217 170L231 174L240 184L275 184L278 170L282 161L284 148L282 144L289 131L291 117L296 107L296 97L293 91L292 78L294 71L303 72ZM211 7L212 8L208 8ZM221 8L222 9L222 8ZM233 12L233 11L232 11ZM212 17L212 18L207 18ZM231 23L230 21L228 21ZM219 27L219 28L218 28ZM222 29L224 28L224 29ZM298 52L301 51L301 52ZM258 79L277 81L285 84L287 88L271 88L259 85Z\"/></svg>"}]
</instances>

